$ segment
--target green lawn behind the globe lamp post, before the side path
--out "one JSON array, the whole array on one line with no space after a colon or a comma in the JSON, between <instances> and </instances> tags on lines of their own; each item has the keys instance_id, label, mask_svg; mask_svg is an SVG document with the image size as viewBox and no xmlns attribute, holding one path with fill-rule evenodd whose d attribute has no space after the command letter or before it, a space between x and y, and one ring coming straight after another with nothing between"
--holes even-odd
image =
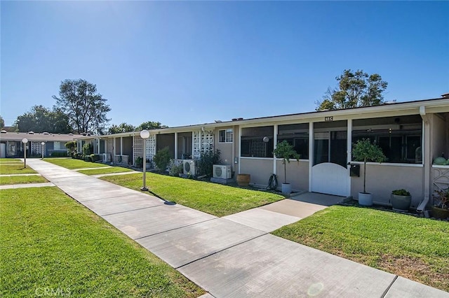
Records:
<instances>
[{"instance_id":1,"label":"green lawn behind the globe lamp post, before the side path","mask_svg":"<svg viewBox=\"0 0 449 298\"><path fill-rule=\"evenodd\" d=\"M142 173L101 179L140 190ZM225 216L284 199L279 194L147 173L147 187L159 197L216 216Z\"/></svg>"}]
</instances>

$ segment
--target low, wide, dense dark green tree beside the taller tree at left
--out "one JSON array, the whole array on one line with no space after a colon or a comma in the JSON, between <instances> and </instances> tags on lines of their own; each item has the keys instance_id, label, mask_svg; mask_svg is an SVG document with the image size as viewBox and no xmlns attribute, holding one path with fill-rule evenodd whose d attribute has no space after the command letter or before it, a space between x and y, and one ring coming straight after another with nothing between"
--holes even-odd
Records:
<instances>
[{"instance_id":1,"label":"low, wide, dense dark green tree beside the taller tree at left","mask_svg":"<svg viewBox=\"0 0 449 298\"><path fill-rule=\"evenodd\" d=\"M52 132L68 134L72 131L69 118L58 109L49 110L44 106L33 106L31 111L18 116L15 120L19 132Z\"/></svg>"}]
</instances>

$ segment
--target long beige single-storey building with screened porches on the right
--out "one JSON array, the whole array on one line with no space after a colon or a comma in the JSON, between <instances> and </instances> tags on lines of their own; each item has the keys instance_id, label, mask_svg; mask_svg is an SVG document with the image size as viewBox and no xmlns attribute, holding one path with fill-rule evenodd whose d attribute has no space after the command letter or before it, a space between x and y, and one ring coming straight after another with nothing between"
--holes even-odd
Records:
<instances>
[{"instance_id":1,"label":"long beige single-storey building with screened porches on the right","mask_svg":"<svg viewBox=\"0 0 449 298\"><path fill-rule=\"evenodd\" d=\"M369 190L377 204L389 204L391 190L407 188L416 208L431 199L434 190L449 187L449 166L432 164L436 157L449 157L449 94L439 99L217 120L149 132L145 145L140 132L79 140L93 143L95 153L103 153L108 161L126 164L133 164L143 150L152 159L168 147L176 162L188 162L192 168L192 159L201 152L218 149L222 164L232 166L233 176L249 173L251 185L260 187L267 186L272 173L283 180L281 159L274 157L273 150L286 140L301 155L300 162L287 165L293 190L357 197L363 190L363 178L351 172L351 164L360 164L352 159L351 144L368 138L388 159L367 166Z\"/></svg>"}]
</instances>

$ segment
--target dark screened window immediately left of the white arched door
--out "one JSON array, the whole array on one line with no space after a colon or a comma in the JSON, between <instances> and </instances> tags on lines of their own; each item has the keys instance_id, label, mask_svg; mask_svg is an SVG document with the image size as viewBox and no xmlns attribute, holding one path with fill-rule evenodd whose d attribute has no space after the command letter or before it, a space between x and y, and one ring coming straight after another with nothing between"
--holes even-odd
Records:
<instances>
[{"instance_id":1,"label":"dark screened window immediately left of the white arched door","mask_svg":"<svg viewBox=\"0 0 449 298\"><path fill-rule=\"evenodd\" d=\"M309 159L309 123L279 125L278 142L284 140L293 145L301 159Z\"/></svg>"}]
</instances>

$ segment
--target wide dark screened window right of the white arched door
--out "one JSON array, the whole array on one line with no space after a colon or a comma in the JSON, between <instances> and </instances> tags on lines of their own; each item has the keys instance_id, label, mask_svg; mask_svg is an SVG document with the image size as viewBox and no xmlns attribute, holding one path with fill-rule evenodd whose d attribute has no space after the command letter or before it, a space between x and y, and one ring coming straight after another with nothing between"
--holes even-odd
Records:
<instances>
[{"instance_id":1,"label":"wide dark screened window right of the white arched door","mask_svg":"<svg viewBox=\"0 0 449 298\"><path fill-rule=\"evenodd\" d=\"M387 162L422 163L422 119L420 115L354 120L352 142L370 139Z\"/></svg>"}]
</instances>

